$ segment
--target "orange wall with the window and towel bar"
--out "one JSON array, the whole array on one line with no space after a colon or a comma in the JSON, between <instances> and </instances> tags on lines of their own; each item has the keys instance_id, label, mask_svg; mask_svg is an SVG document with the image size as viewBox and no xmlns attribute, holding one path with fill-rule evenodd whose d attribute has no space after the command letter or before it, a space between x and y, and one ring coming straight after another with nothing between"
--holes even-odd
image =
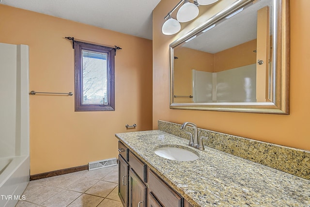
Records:
<instances>
[{"instance_id":1,"label":"orange wall with the window and towel bar","mask_svg":"<svg viewBox=\"0 0 310 207\"><path fill-rule=\"evenodd\" d=\"M115 111L75 112L74 96L30 96L31 175L116 158L115 133L152 129L151 40L4 5L0 14L0 42L29 45L30 90L74 92L74 49L65 36L123 48Z\"/></svg>"}]
</instances>

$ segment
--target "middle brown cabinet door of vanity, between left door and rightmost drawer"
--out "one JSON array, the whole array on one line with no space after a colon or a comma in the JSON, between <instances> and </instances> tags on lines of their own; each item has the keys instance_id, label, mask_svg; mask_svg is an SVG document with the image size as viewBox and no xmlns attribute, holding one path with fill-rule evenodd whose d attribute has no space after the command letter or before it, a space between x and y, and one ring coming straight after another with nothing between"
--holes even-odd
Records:
<instances>
[{"instance_id":1,"label":"middle brown cabinet door of vanity, between left door and rightmost drawer","mask_svg":"<svg viewBox=\"0 0 310 207\"><path fill-rule=\"evenodd\" d=\"M132 169L129 170L129 207L146 207L146 186Z\"/></svg>"}]
</instances>

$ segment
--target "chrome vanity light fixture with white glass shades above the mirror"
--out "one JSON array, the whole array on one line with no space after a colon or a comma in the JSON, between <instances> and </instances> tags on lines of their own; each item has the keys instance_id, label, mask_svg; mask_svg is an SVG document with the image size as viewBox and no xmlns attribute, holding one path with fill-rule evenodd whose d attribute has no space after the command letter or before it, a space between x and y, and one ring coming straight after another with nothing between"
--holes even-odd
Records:
<instances>
[{"instance_id":1,"label":"chrome vanity light fixture with white glass shades above the mirror","mask_svg":"<svg viewBox=\"0 0 310 207\"><path fill-rule=\"evenodd\" d=\"M215 3L218 0L198 0L198 1L200 1L202 3L201 5L208 5L211 3ZM161 29L163 34L166 34L166 35L175 34L181 30L180 22L187 22L187 21L191 21L194 18L196 18L199 14L198 6L200 4L198 1L193 0L193 3L191 3L189 0L180 0L180 2L168 13L168 15L165 16L164 19L167 19L167 21L164 22L162 29ZM180 7L179 11L177 12L177 15L176 15L177 20L176 20L176 19L171 17L171 14L179 6L181 6L181 7Z\"/></svg>"}]
</instances>

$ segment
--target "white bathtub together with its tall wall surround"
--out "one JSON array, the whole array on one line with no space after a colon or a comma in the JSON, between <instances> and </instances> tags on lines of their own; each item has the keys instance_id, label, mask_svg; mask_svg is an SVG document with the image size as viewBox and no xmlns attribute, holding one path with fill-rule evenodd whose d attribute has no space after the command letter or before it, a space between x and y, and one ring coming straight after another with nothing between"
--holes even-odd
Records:
<instances>
[{"instance_id":1,"label":"white bathtub together with its tall wall surround","mask_svg":"<svg viewBox=\"0 0 310 207\"><path fill-rule=\"evenodd\" d=\"M29 47L0 43L0 207L29 183Z\"/></svg>"}]
</instances>

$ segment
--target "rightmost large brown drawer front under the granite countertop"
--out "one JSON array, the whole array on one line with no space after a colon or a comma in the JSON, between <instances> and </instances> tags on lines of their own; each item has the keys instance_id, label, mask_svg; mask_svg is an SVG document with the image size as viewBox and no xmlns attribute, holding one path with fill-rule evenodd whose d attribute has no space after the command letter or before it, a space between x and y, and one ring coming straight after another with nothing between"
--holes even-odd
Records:
<instances>
[{"instance_id":1,"label":"rightmost large brown drawer front under the granite countertop","mask_svg":"<svg viewBox=\"0 0 310 207\"><path fill-rule=\"evenodd\" d=\"M152 170L149 170L148 184L150 191L165 207L182 207L182 197L167 185Z\"/></svg>"}]
</instances>

